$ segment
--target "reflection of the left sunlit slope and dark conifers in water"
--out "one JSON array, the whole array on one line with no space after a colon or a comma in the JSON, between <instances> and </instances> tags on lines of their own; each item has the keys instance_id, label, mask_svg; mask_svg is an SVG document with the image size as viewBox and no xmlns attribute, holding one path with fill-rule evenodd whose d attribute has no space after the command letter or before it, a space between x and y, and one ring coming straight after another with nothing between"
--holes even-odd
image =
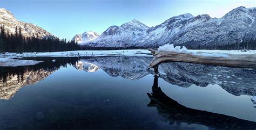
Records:
<instances>
[{"instance_id":1,"label":"reflection of the left sunlit slope and dark conifers in water","mask_svg":"<svg viewBox=\"0 0 256 130\"><path fill-rule=\"evenodd\" d=\"M0 99L10 99L22 86L35 84L51 75L60 67L75 64L77 57L31 57L29 60L40 60L34 66L0 67ZM56 62L52 62L56 59Z\"/></svg>"}]
</instances>

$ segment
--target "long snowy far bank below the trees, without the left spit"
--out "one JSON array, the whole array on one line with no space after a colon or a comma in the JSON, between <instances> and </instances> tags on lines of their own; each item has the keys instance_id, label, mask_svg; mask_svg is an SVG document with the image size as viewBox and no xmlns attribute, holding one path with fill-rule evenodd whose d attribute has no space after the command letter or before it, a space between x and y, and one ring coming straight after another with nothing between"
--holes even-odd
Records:
<instances>
[{"instance_id":1,"label":"long snowy far bank below the trees, without the left spit","mask_svg":"<svg viewBox=\"0 0 256 130\"><path fill-rule=\"evenodd\" d=\"M183 50L182 48L180 50ZM182 51L181 51L182 52ZM198 54L202 53L226 53L226 54L256 54L256 50L191 50L186 52ZM36 56L51 56L51 57L76 57L76 56L112 56L112 55L136 55L136 56L152 56L151 52L146 49L124 49L124 50L74 50L68 52L43 52L43 53L5 53L0 54L0 57L36 57Z\"/></svg>"}]
</instances>

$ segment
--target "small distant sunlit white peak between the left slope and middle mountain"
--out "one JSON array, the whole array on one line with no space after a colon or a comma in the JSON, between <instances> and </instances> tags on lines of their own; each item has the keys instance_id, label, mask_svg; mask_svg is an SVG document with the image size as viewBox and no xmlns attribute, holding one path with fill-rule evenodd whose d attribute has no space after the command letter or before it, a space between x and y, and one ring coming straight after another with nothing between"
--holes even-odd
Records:
<instances>
[{"instance_id":1,"label":"small distant sunlit white peak between the left slope and middle mountain","mask_svg":"<svg viewBox=\"0 0 256 130\"><path fill-rule=\"evenodd\" d=\"M76 34L72 40L75 40L80 45L85 45L98 37L99 35L96 32L89 31L83 34Z\"/></svg>"}]
</instances>

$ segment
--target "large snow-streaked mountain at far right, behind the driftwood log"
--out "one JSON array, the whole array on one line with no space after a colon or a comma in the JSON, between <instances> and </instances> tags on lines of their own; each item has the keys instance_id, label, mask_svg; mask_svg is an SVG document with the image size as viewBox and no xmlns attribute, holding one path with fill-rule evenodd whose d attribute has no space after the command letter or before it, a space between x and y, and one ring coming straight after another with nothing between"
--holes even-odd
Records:
<instances>
[{"instance_id":1,"label":"large snow-streaked mountain at far right, behind the driftwood log","mask_svg":"<svg viewBox=\"0 0 256 130\"><path fill-rule=\"evenodd\" d=\"M228 44L242 41L243 38L256 36L256 8L240 6L228 12L224 17L211 18L201 15L188 19L188 24L181 28L171 40L163 41L176 45ZM155 41L157 42L157 41Z\"/></svg>"}]
</instances>

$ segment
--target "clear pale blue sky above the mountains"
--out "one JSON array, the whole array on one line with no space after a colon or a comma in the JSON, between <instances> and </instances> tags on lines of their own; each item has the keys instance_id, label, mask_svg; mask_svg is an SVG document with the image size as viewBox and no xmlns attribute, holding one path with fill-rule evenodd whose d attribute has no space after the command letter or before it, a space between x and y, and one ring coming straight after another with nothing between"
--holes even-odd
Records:
<instances>
[{"instance_id":1,"label":"clear pale blue sky above the mountains","mask_svg":"<svg viewBox=\"0 0 256 130\"><path fill-rule=\"evenodd\" d=\"M68 40L85 31L101 34L132 19L152 27L184 13L220 18L238 6L252 8L256 0L0 0L0 8L19 21Z\"/></svg>"}]
</instances>

